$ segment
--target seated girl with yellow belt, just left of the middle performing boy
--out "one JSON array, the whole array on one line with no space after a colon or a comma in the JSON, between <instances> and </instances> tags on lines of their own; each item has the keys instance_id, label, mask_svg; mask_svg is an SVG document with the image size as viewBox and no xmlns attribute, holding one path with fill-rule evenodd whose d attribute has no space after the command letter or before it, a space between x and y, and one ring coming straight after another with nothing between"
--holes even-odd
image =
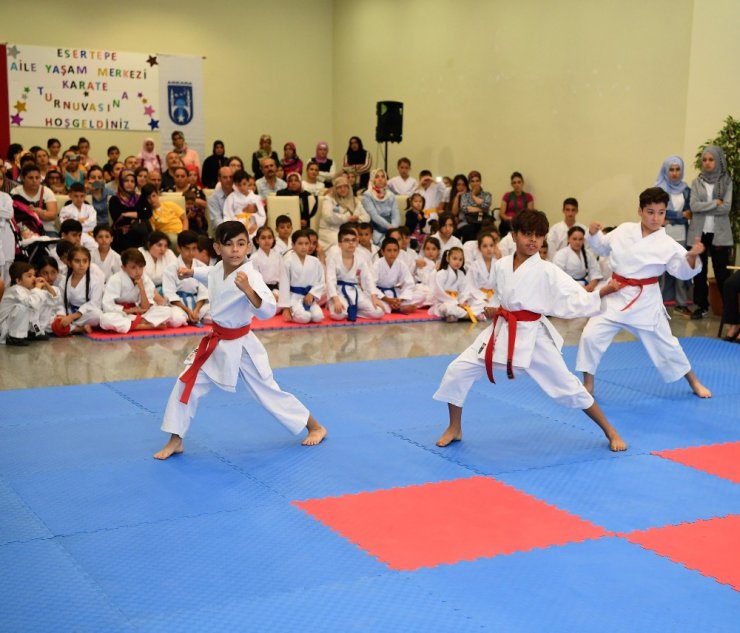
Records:
<instances>
[{"instance_id":1,"label":"seated girl with yellow belt, just left of the middle performing boy","mask_svg":"<svg viewBox=\"0 0 740 633\"><path fill-rule=\"evenodd\" d=\"M429 308L432 316L443 317L448 323L463 319L478 322L470 307L472 289L465 276L465 256L459 246L447 249L442 256L432 282L432 292L432 305Z\"/></svg>"}]
</instances>

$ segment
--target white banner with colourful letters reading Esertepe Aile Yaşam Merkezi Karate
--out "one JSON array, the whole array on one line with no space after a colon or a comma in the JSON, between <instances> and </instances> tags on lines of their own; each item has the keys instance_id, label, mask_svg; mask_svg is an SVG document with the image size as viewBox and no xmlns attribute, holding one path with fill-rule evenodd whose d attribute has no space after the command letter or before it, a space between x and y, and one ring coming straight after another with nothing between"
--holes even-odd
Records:
<instances>
[{"instance_id":1,"label":"white banner with colourful letters reading Esertepe Aile Ya\u015fam Merkezi Karate","mask_svg":"<svg viewBox=\"0 0 740 633\"><path fill-rule=\"evenodd\" d=\"M157 129L156 64L145 53L8 44L10 125Z\"/></svg>"}]
</instances>

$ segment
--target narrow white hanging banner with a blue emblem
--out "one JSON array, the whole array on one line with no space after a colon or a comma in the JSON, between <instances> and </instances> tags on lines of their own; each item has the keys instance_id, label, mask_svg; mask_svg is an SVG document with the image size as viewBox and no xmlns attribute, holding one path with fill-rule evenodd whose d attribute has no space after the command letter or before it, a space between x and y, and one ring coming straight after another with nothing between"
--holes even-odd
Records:
<instances>
[{"instance_id":1,"label":"narrow white hanging banner with a blue emblem","mask_svg":"<svg viewBox=\"0 0 740 633\"><path fill-rule=\"evenodd\" d=\"M203 59L158 55L157 61L161 104L159 147L163 150L172 147L172 132L180 130L188 147L198 152L202 161L210 154L210 148L208 154L204 153Z\"/></svg>"}]
</instances>

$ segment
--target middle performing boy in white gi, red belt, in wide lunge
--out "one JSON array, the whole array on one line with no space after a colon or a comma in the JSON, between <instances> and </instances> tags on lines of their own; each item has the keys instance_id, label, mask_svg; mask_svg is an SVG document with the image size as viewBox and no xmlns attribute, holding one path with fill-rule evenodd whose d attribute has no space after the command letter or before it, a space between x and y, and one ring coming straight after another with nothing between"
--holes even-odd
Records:
<instances>
[{"instance_id":1,"label":"middle performing boy in white gi, red belt, in wide lunge","mask_svg":"<svg viewBox=\"0 0 740 633\"><path fill-rule=\"evenodd\" d=\"M434 394L435 400L448 403L450 415L449 426L437 446L462 439L462 407L470 388L486 373L494 382L494 365L504 365L510 379L516 367L529 374L558 404L583 409L604 432L611 450L627 448L593 396L568 371L560 352L563 338L545 316L572 319L596 314L600 308L599 294L584 292L577 281L540 257L547 229L547 217L541 211L525 210L513 218L510 235L516 251L495 264L500 307L485 308L493 323L452 361ZM600 293L606 295L617 289L616 282L611 282Z\"/></svg>"}]
</instances>

